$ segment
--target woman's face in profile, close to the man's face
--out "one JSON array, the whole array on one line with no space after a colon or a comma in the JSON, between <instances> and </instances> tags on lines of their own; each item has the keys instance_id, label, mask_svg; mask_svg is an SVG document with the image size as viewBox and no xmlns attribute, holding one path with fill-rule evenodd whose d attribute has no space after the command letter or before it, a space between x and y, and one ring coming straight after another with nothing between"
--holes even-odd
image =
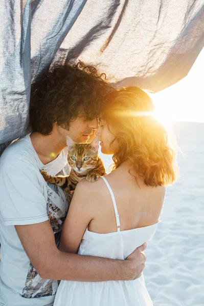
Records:
<instances>
[{"instance_id":1,"label":"woman's face in profile, close to the man's face","mask_svg":"<svg viewBox=\"0 0 204 306\"><path fill-rule=\"evenodd\" d=\"M112 144L111 142L114 140L115 137L109 132L104 120L99 120L99 127L95 132L95 135L99 136L101 152L103 154L114 154L117 145L116 141Z\"/></svg>"}]
</instances>

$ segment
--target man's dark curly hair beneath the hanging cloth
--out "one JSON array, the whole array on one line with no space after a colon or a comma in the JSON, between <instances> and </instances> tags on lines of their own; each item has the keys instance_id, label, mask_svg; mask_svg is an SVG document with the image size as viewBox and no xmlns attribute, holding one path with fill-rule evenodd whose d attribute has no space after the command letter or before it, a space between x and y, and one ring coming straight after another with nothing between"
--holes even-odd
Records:
<instances>
[{"instance_id":1,"label":"man's dark curly hair beneath the hanging cloth","mask_svg":"<svg viewBox=\"0 0 204 306\"><path fill-rule=\"evenodd\" d=\"M44 71L31 86L32 131L49 135L54 122L68 130L70 122L80 114L87 120L96 118L111 89L103 77L105 74L82 63Z\"/></svg>"}]
</instances>

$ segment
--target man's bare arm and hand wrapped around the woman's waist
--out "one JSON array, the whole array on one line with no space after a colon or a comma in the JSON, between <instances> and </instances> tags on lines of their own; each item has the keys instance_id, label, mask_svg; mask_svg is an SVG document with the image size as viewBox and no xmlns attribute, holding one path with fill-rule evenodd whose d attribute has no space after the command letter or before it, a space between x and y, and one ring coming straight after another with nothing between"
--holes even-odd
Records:
<instances>
[{"instance_id":1,"label":"man's bare arm and hand wrapped around the woman's waist","mask_svg":"<svg viewBox=\"0 0 204 306\"><path fill-rule=\"evenodd\" d=\"M15 225L32 265L42 278L101 282L138 278L146 261L143 244L127 260L111 260L65 253L57 249L49 221Z\"/></svg>"}]
</instances>

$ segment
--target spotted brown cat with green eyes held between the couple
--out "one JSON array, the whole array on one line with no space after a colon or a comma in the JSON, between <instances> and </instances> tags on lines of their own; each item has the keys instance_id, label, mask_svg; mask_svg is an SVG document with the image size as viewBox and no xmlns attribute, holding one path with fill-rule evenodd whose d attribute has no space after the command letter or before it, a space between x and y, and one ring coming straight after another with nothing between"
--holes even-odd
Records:
<instances>
[{"instance_id":1,"label":"spotted brown cat with green eyes held between the couple","mask_svg":"<svg viewBox=\"0 0 204 306\"><path fill-rule=\"evenodd\" d=\"M77 183L86 179L95 182L100 176L106 175L104 164L98 155L98 136L91 143L75 143L69 136L66 137L68 148L67 161L71 166L71 172L66 176L53 176L40 170L44 180L56 184L64 190L67 201L75 190Z\"/></svg>"}]
</instances>

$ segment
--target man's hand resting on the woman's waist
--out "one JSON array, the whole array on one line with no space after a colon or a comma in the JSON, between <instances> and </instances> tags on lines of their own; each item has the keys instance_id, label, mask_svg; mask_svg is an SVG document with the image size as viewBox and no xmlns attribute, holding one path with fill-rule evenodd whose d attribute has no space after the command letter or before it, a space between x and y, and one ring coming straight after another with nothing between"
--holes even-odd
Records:
<instances>
[{"instance_id":1,"label":"man's hand resting on the woman's waist","mask_svg":"<svg viewBox=\"0 0 204 306\"><path fill-rule=\"evenodd\" d=\"M146 256L143 251L147 245L147 242L145 242L127 257L126 261L129 265L129 268L127 268L127 273L129 274L128 279L135 279L141 276L146 261Z\"/></svg>"}]
</instances>

